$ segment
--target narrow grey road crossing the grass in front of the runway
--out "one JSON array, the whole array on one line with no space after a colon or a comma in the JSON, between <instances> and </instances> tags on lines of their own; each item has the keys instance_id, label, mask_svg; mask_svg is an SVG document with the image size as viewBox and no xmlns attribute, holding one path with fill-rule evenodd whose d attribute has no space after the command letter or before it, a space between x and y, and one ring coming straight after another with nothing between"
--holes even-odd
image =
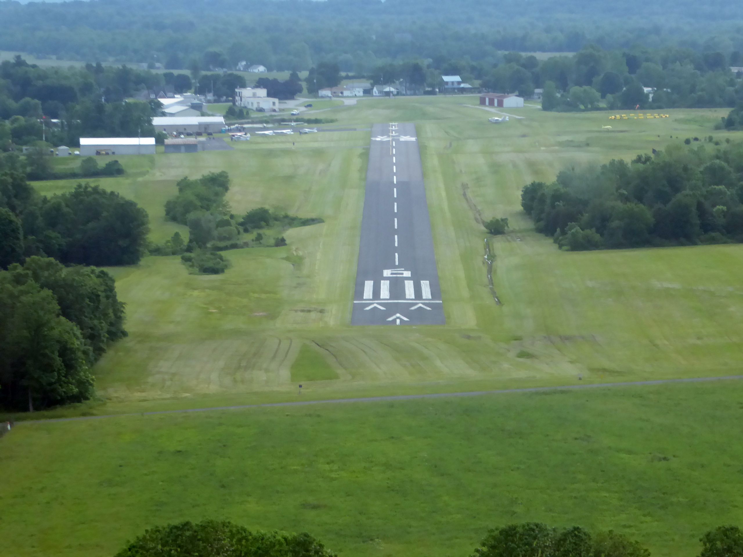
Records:
<instances>
[{"instance_id":1,"label":"narrow grey road crossing the grass in front of the runway","mask_svg":"<svg viewBox=\"0 0 743 557\"><path fill-rule=\"evenodd\" d=\"M241 404L235 406L212 406L211 408L187 408L185 410L159 410L152 412L137 412L136 414L102 414L100 416L80 416L71 418L50 418L48 420L23 420L16 423L16 427L22 424L49 423L49 422L78 422L82 420L100 420L107 417L124 416L152 416L157 414L186 414L190 412L213 412L224 410L243 410L246 408L273 408L275 406L307 406L313 404L348 404L348 403L384 403L396 400L420 400L455 397L482 397L493 394L515 394L515 393L542 393L548 391L583 391L594 388L623 388L623 387L649 387L653 385L672 385L675 383L707 383L716 381L740 381L743 375L726 375L722 377L687 377L685 379L661 379L654 381L627 381L613 383L583 383L580 385L561 385L558 387L526 387L526 388L504 388L497 391L467 391L459 393L432 393L432 394L398 394L389 397L365 397L365 398L338 398L329 400L300 400L293 403L264 403L264 404Z\"/></svg>"}]
</instances>

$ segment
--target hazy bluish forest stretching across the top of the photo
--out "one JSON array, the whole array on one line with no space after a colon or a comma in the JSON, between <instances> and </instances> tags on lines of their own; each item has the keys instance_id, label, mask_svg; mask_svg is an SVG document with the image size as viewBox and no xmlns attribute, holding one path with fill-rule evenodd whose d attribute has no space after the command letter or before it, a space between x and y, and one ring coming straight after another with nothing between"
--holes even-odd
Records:
<instances>
[{"instance_id":1,"label":"hazy bluish forest stretching across the top of the photo","mask_svg":"<svg viewBox=\"0 0 743 557\"><path fill-rule=\"evenodd\" d=\"M0 49L83 61L186 68L214 49L224 67L363 73L421 57L496 62L499 51L576 52L666 45L743 50L737 2L710 0L97 0L0 2Z\"/></svg>"}]
</instances>

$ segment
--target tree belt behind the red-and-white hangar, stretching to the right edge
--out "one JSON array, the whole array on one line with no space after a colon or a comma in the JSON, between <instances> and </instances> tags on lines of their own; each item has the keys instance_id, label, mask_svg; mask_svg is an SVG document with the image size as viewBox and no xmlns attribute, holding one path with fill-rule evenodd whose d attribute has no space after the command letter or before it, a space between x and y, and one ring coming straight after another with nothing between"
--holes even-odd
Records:
<instances>
[{"instance_id":1,"label":"tree belt behind the red-and-white hangar, stretching to the right edge","mask_svg":"<svg viewBox=\"0 0 743 557\"><path fill-rule=\"evenodd\" d=\"M730 71L741 59L738 51L730 56L682 48L604 51L596 45L543 61L506 53L502 64L484 72L481 85L525 97L543 88L545 110L732 107L743 100L743 82ZM652 99L643 87L655 90Z\"/></svg>"}]
</instances>

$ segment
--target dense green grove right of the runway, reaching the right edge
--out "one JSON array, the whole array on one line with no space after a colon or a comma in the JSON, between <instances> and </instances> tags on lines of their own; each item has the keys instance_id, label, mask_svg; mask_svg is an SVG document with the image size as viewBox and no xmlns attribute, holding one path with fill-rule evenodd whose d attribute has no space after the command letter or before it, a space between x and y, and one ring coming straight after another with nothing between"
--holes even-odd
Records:
<instances>
[{"instance_id":1,"label":"dense green grove right of the runway, reaching the right edge","mask_svg":"<svg viewBox=\"0 0 743 557\"><path fill-rule=\"evenodd\" d=\"M668 146L533 182L522 207L563 249L743 241L743 145Z\"/></svg>"}]
</instances>

